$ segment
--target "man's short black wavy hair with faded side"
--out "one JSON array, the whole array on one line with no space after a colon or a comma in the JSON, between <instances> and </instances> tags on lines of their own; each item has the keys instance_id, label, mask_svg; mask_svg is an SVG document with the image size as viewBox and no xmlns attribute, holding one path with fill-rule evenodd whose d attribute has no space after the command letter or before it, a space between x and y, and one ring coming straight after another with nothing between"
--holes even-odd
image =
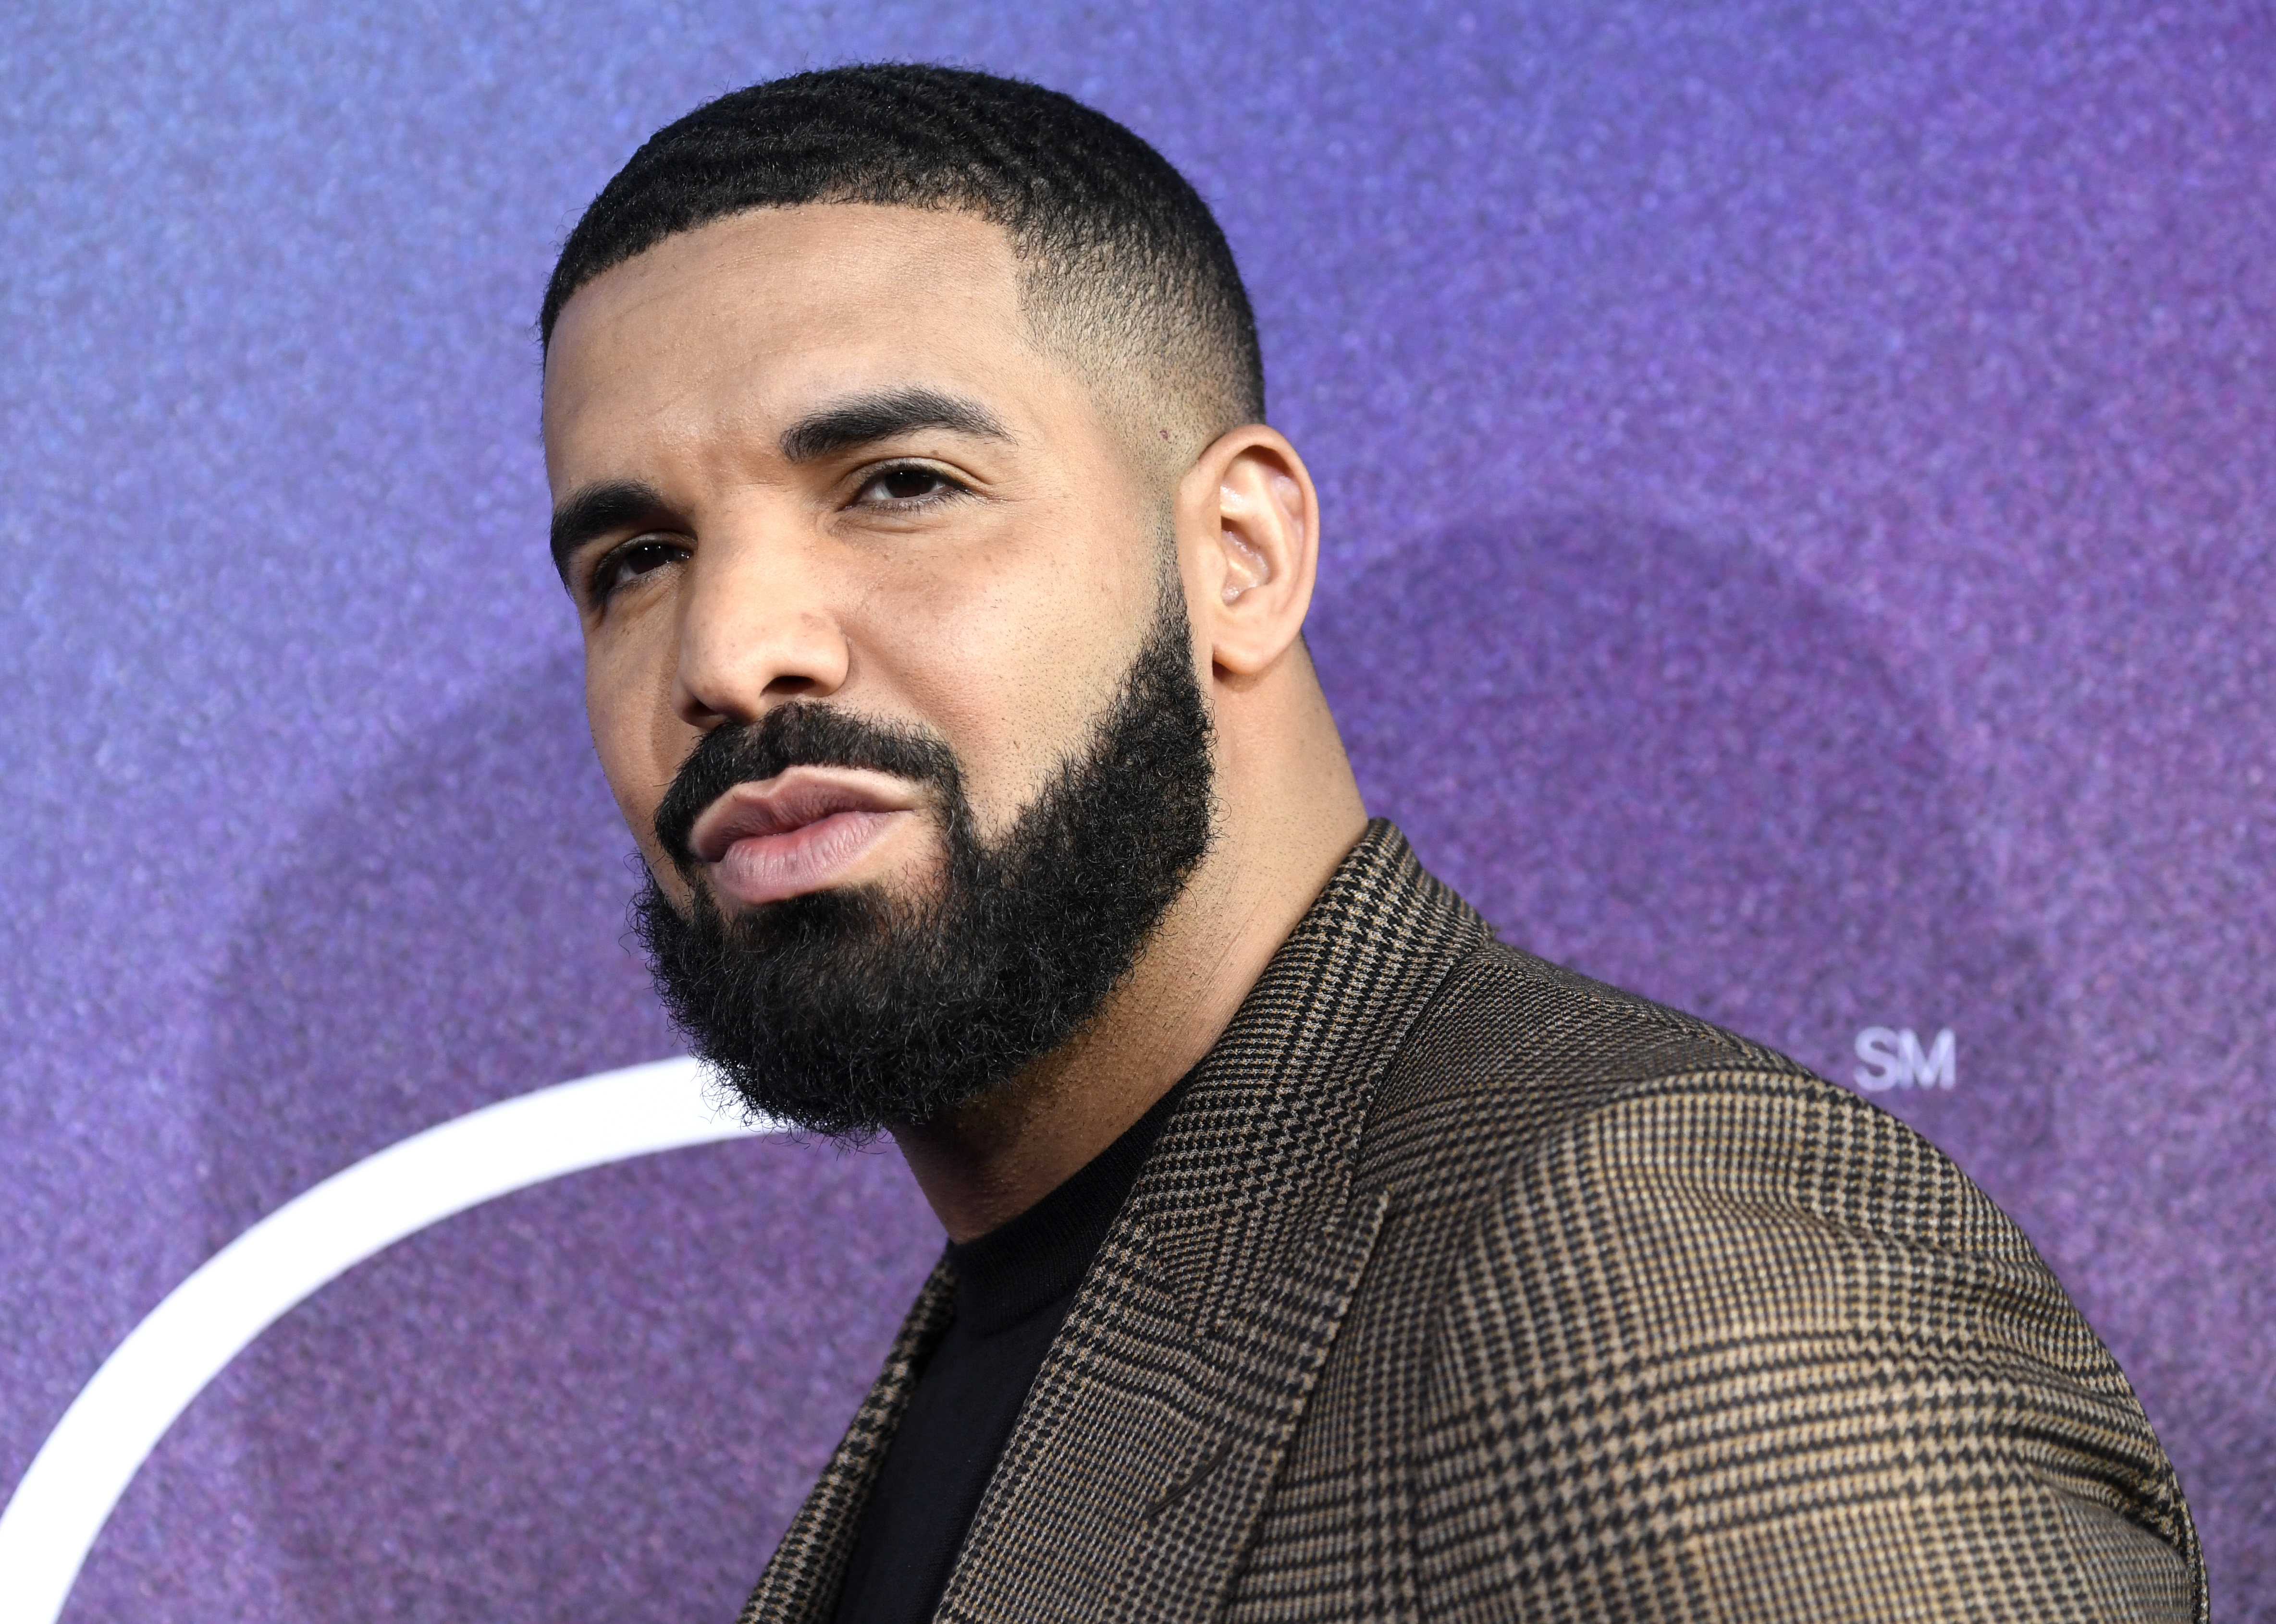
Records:
<instances>
[{"instance_id":1,"label":"man's short black wavy hair with faded side","mask_svg":"<svg viewBox=\"0 0 2276 1624\"><path fill-rule=\"evenodd\" d=\"M1265 414L1247 289L1186 177L1072 96L929 64L769 80L658 130L562 243L539 343L610 266L731 214L801 202L979 214L1011 237L1047 341L1104 343L1118 366L1184 396L1204 437Z\"/></svg>"}]
</instances>

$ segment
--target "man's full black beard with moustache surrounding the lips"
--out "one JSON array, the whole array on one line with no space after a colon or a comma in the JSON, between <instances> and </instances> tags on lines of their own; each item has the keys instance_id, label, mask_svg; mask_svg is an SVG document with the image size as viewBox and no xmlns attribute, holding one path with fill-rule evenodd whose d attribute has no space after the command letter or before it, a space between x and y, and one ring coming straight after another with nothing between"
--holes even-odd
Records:
<instances>
[{"instance_id":1,"label":"man's full black beard with moustache surrounding the lips","mask_svg":"<svg viewBox=\"0 0 2276 1624\"><path fill-rule=\"evenodd\" d=\"M649 876L633 930L674 1026L753 1110L840 1140L929 1121L1063 1044L1129 973L1209 848L1209 751L1174 587L1090 741L997 844L942 739L797 701L690 753L655 812L671 860L690 873L687 830L733 785L858 767L931 792L938 880L726 919L703 885L681 914Z\"/></svg>"}]
</instances>

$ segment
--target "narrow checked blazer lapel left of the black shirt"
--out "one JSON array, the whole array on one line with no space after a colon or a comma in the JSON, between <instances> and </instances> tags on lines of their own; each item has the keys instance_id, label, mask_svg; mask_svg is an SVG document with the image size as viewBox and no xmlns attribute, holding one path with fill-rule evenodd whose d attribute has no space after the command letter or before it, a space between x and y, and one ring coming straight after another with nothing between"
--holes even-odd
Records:
<instances>
[{"instance_id":1,"label":"narrow checked blazer lapel left of the black shirt","mask_svg":"<svg viewBox=\"0 0 2276 1624\"><path fill-rule=\"evenodd\" d=\"M760 1574L740 1624L826 1624L831 1608L838 1606L847 1560L853 1556L863 1508L869 1503L879 1467L885 1465L885 1447L908 1408L917 1372L924 1369L954 1315L956 1276L942 1258L901 1321L901 1333L885 1353L885 1369L853 1412L853 1424L838 1440L831 1463L822 1467L822 1481L806 1497L774 1560Z\"/></svg>"}]
</instances>

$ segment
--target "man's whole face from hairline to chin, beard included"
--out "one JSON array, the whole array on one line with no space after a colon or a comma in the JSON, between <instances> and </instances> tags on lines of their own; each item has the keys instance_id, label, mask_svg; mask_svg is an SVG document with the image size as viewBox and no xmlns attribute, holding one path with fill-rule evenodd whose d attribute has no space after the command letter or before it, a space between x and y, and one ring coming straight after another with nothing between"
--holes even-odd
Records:
<instances>
[{"instance_id":1,"label":"man's whole face from hairline to chin, beard included","mask_svg":"<svg viewBox=\"0 0 2276 1624\"><path fill-rule=\"evenodd\" d=\"M555 553L642 937L696 1051L828 1133L1063 1042L1211 835L1149 489L995 227L808 207L562 312Z\"/></svg>"}]
</instances>

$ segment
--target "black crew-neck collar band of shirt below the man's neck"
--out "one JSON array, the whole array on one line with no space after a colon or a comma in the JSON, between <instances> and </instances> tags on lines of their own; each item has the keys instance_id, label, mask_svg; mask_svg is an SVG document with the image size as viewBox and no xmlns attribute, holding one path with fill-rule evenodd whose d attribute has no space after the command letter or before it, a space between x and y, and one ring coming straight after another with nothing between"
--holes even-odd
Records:
<instances>
[{"instance_id":1,"label":"black crew-neck collar band of shirt below the man's neck","mask_svg":"<svg viewBox=\"0 0 2276 1624\"><path fill-rule=\"evenodd\" d=\"M986 1235L949 1244L956 1319L965 1335L988 1337L1017 1326L1083 1283L1184 1092L1186 1083L1179 1080L1145 1117L1026 1212Z\"/></svg>"}]
</instances>

